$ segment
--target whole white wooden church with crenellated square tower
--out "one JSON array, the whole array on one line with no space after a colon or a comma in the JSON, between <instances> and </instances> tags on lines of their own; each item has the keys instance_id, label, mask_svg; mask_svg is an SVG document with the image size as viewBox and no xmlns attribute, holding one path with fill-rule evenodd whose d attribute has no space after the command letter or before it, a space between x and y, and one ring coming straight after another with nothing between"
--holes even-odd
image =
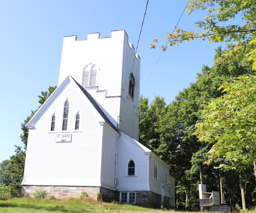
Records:
<instances>
[{"instance_id":1,"label":"whole white wooden church with crenellated square tower","mask_svg":"<svg viewBox=\"0 0 256 213\"><path fill-rule=\"evenodd\" d=\"M174 205L169 165L139 139L139 100L140 57L125 30L64 37L58 87L27 124L23 192Z\"/></svg>"}]
</instances>

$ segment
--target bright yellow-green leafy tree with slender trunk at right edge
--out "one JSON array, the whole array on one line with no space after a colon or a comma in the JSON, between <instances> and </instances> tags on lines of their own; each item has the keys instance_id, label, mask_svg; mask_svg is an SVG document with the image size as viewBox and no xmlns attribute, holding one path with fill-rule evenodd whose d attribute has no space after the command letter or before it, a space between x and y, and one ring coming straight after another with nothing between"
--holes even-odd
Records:
<instances>
[{"instance_id":1,"label":"bright yellow-green leafy tree with slender trunk at right edge","mask_svg":"<svg viewBox=\"0 0 256 213\"><path fill-rule=\"evenodd\" d=\"M218 168L239 175L243 208L246 208L243 172L256 159L256 78L240 76L218 90L227 92L205 105L204 122L196 125L200 141L214 144L206 163L224 159Z\"/></svg>"}]
</instances>

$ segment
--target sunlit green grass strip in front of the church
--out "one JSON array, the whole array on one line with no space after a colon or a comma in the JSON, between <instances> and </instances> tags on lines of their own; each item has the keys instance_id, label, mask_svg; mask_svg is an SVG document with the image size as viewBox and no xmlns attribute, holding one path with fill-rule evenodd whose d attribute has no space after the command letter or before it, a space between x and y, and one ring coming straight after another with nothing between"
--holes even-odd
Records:
<instances>
[{"instance_id":1,"label":"sunlit green grass strip in front of the church","mask_svg":"<svg viewBox=\"0 0 256 213\"><path fill-rule=\"evenodd\" d=\"M161 210L152 207L141 207L130 204L116 204L105 202L92 202L91 200L79 199L58 200L58 199L34 199L12 198L7 201L0 201L0 213L90 213L90 212L123 212L136 213L144 211L174 212L175 210Z\"/></svg>"}]
</instances>

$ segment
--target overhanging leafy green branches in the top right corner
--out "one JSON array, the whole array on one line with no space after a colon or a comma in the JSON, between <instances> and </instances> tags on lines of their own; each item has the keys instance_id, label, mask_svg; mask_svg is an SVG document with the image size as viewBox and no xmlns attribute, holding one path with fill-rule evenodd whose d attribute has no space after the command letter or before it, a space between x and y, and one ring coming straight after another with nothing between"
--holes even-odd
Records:
<instances>
[{"instance_id":1,"label":"overhanging leafy green branches in the top right corner","mask_svg":"<svg viewBox=\"0 0 256 213\"><path fill-rule=\"evenodd\" d=\"M244 57L247 54L249 60L253 60L253 69L256 69L256 0L187 0L189 1L186 11L188 14L198 10L207 11L203 21L198 21L197 28L203 30L200 33L195 31L184 31L175 28L173 34L168 33L166 39L170 46L179 45L183 42L200 39L212 42L236 42L231 51L224 52L222 60L232 60L237 57ZM237 16L241 17L243 24L230 24L226 22ZM153 42L158 42L154 39ZM154 44L151 48L156 48ZM167 46L163 45L162 50L166 51Z\"/></svg>"}]
</instances>

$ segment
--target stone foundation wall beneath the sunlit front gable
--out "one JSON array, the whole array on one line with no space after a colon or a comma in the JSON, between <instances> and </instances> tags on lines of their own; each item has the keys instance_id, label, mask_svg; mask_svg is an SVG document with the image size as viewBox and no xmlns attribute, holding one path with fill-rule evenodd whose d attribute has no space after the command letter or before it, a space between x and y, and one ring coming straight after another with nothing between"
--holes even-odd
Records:
<instances>
[{"instance_id":1,"label":"stone foundation wall beneath the sunlit front gable","mask_svg":"<svg viewBox=\"0 0 256 213\"><path fill-rule=\"evenodd\" d=\"M85 191L90 198L97 199L97 194L102 193L102 200L111 202L116 199L116 191L103 187L74 187L74 186L22 186L22 192L32 196L36 189L44 189L49 195L59 197L78 197Z\"/></svg>"}]
</instances>

